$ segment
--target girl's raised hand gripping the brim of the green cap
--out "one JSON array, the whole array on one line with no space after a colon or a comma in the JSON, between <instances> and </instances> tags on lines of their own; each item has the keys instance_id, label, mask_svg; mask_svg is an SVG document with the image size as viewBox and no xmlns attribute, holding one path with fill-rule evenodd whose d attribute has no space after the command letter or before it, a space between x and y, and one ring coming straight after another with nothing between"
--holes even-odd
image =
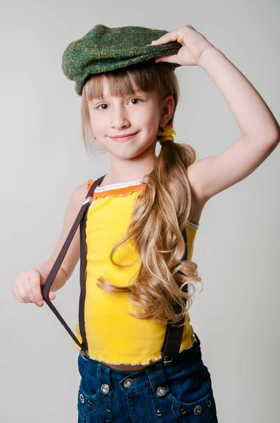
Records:
<instances>
[{"instance_id":1,"label":"girl's raised hand gripping the brim of the green cap","mask_svg":"<svg viewBox=\"0 0 280 423\"><path fill-rule=\"evenodd\" d=\"M155 62L165 61L169 63L178 63L179 65L199 66L198 62L203 51L208 47L215 48L208 39L200 32L196 31L191 25L184 25L184 27L179 28L179 30L167 32L163 37L155 39L148 45L155 46L173 41L182 44L178 53L172 54L171 56L158 57L155 59Z\"/></svg>"}]
</instances>

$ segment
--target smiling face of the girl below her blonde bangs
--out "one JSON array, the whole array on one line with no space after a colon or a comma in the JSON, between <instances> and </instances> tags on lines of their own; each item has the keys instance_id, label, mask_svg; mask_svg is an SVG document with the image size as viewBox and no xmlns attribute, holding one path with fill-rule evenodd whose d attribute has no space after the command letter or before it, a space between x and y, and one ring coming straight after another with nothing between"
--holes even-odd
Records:
<instances>
[{"instance_id":1,"label":"smiling face of the girl below her blonde bangs","mask_svg":"<svg viewBox=\"0 0 280 423\"><path fill-rule=\"evenodd\" d=\"M103 97L89 102L91 131L102 147L120 159L133 159L146 150L155 154L158 124L167 121L157 92L111 97L108 80L103 80ZM124 140L114 138L130 134Z\"/></svg>"}]
</instances>

